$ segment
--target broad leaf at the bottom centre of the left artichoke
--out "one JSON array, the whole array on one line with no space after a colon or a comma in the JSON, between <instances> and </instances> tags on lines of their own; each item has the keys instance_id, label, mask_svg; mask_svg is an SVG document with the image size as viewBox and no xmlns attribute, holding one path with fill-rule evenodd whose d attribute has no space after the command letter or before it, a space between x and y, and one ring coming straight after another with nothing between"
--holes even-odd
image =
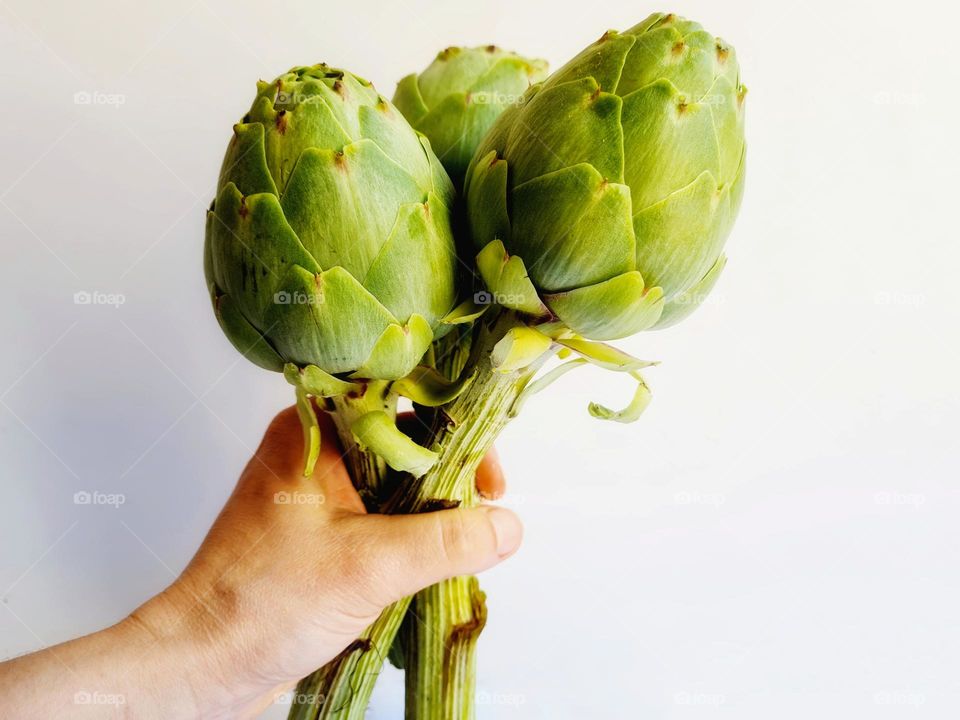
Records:
<instances>
[{"instance_id":1,"label":"broad leaf at the bottom centre of the left artichoke","mask_svg":"<svg viewBox=\"0 0 960 720\"><path fill-rule=\"evenodd\" d=\"M295 265L276 295L264 318L266 335L283 357L300 367L316 365L331 374L353 372L384 331L397 323L342 267L314 275ZM416 361L410 368L414 365ZM407 372L409 368L398 377Z\"/></svg>"}]
</instances>

